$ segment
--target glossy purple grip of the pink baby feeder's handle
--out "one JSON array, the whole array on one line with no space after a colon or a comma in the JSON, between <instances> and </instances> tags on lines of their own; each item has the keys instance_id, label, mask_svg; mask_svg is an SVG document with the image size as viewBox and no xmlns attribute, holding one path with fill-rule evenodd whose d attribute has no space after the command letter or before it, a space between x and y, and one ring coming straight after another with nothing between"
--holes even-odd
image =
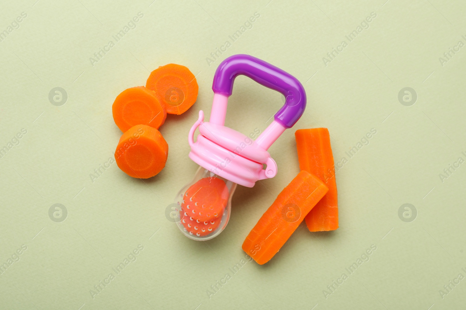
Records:
<instances>
[{"instance_id":1,"label":"glossy purple grip of the pink baby feeder's handle","mask_svg":"<svg viewBox=\"0 0 466 310\"><path fill-rule=\"evenodd\" d=\"M274 116L275 121L283 127L291 128L304 113L306 91L298 79L250 55L238 54L223 60L213 77L213 92L231 96L233 82L238 75L246 75L257 83L281 92L285 96L285 105Z\"/></svg>"}]
</instances>

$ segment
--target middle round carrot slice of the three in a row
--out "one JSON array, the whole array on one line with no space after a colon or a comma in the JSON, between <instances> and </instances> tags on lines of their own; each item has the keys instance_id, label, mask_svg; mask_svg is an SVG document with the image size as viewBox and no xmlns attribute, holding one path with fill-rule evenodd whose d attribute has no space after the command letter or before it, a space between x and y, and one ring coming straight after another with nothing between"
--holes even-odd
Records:
<instances>
[{"instance_id":1,"label":"middle round carrot slice of the three in a row","mask_svg":"<svg viewBox=\"0 0 466 310\"><path fill-rule=\"evenodd\" d=\"M156 93L144 86L125 89L112 106L113 119L122 132L135 125L149 125L158 129L167 118L164 104Z\"/></svg>"}]
</instances>

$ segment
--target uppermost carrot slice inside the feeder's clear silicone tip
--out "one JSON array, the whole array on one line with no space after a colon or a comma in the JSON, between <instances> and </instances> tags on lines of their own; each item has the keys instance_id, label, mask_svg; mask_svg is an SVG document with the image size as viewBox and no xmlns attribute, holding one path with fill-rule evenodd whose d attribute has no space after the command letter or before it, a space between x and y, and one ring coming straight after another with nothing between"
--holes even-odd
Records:
<instances>
[{"instance_id":1,"label":"uppermost carrot slice inside the feeder's clear silicone tip","mask_svg":"<svg viewBox=\"0 0 466 310\"><path fill-rule=\"evenodd\" d=\"M181 211L185 213L185 218L192 217L201 222L221 217L228 195L228 188L222 179L201 178L185 192Z\"/></svg>"}]
</instances>

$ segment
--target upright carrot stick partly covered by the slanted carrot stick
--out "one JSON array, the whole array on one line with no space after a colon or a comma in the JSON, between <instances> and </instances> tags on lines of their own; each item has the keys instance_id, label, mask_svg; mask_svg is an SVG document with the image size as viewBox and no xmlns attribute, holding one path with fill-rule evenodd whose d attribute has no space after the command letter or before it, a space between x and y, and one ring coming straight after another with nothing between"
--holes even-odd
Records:
<instances>
[{"instance_id":1,"label":"upright carrot stick partly covered by the slanted carrot stick","mask_svg":"<svg viewBox=\"0 0 466 310\"><path fill-rule=\"evenodd\" d=\"M299 129L295 137L300 169L315 174L329 188L306 216L306 225L309 231L334 231L338 228L338 200L329 130Z\"/></svg>"}]
</instances>

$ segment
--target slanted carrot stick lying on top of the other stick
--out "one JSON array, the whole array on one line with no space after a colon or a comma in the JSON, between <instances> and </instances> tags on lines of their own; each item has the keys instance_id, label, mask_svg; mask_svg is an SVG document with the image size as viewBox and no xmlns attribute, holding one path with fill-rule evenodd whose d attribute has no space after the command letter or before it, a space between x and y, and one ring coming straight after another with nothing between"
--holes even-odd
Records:
<instances>
[{"instance_id":1,"label":"slanted carrot stick lying on top of the other stick","mask_svg":"<svg viewBox=\"0 0 466 310\"><path fill-rule=\"evenodd\" d=\"M243 250L258 264L267 263L327 191L327 186L315 175L307 171L298 173L247 235Z\"/></svg>"}]
</instances>

